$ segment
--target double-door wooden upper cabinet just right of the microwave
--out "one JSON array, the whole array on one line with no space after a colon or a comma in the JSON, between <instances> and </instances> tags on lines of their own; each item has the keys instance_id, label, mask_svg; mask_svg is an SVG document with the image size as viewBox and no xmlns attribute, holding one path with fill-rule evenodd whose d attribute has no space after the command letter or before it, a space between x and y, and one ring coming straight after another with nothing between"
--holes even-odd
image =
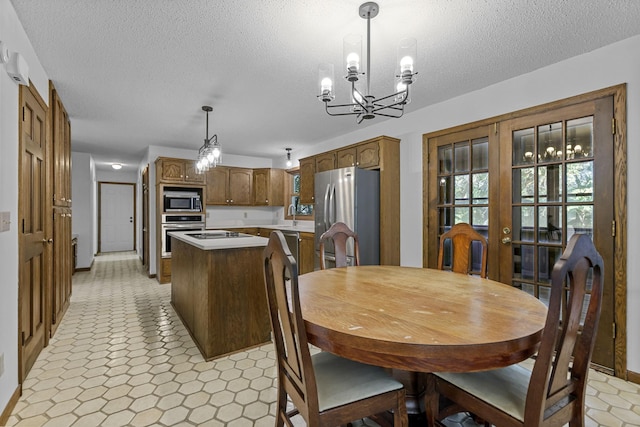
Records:
<instances>
[{"instance_id":1,"label":"double-door wooden upper cabinet just right of the microwave","mask_svg":"<svg viewBox=\"0 0 640 427\"><path fill-rule=\"evenodd\" d=\"M207 205L250 206L253 170L217 166L207 171Z\"/></svg>"}]
</instances>

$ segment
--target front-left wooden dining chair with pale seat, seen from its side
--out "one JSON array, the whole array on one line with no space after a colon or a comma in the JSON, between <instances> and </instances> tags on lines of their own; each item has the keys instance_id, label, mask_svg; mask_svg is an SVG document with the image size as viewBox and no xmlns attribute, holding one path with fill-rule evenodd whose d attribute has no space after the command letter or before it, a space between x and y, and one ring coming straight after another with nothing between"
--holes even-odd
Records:
<instances>
[{"instance_id":1,"label":"front-left wooden dining chair with pale seat, seen from its side","mask_svg":"<svg viewBox=\"0 0 640 427\"><path fill-rule=\"evenodd\" d=\"M264 251L264 279L278 369L276 427L292 425L298 414L308 426L337 426L391 410L395 426L407 425L403 385L383 368L310 354L298 267L280 231L271 233ZM289 411L287 397L294 406Z\"/></svg>"}]
</instances>

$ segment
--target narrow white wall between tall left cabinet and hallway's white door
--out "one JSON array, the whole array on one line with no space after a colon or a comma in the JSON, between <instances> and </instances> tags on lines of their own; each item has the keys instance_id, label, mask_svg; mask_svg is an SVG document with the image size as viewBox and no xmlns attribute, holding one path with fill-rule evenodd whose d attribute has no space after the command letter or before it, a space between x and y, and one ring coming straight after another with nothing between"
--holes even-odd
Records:
<instances>
[{"instance_id":1,"label":"narrow white wall between tall left cabinet and hallway's white door","mask_svg":"<svg viewBox=\"0 0 640 427\"><path fill-rule=\"evenodd\" d=\"M72 233L78 235L77 268L90 268L97 242L95 241L94 194L96 182L91 154L71 153Z\"/></svg>"}]
</instances>

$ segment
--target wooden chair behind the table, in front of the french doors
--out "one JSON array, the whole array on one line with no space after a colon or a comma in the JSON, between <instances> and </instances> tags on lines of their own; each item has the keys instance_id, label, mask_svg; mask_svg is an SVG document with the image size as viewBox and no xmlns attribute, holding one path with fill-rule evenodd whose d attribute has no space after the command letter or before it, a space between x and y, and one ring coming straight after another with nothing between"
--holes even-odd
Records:
<instances>
[{"instance_id":1,"label":"wooden chair behind the table, in front of the french doors","mask_svg":"<svg viewBox=\"0 0 640 427\"><path fill-rule=\"evenodd\" d=\"M451 271L463 274L479 274L480 277L487 277L487 239L471 225L460 222L442 236L440 236L440 249L438 250L438 269L449 269L444 265L445 244L451 242ZM472 249L473 242L480 242L482 246L482 260L480 270L473 269Z\"/></svg>"}]
</instances>

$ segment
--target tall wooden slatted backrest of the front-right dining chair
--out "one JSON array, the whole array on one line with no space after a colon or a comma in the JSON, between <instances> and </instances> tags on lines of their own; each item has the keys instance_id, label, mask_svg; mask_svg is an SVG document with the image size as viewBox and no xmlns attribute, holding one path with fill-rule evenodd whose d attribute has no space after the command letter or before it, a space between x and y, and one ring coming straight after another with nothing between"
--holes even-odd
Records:
<instances>
[{"instance_id":1,"label":"tall wooden slatted backrest of the front-right dining chair","mask_svg":"<svg viewBox=\"0 0 640 427\"><path fill-rule=\"evenodd\" d=\"M553 267L549 311L529 383L525 420L544 419L545 409L565 397L571 400L569 405L584 407L602 306L603 273L602 257L591 238L571 236Z\"/></svg>"}]
</instances>

